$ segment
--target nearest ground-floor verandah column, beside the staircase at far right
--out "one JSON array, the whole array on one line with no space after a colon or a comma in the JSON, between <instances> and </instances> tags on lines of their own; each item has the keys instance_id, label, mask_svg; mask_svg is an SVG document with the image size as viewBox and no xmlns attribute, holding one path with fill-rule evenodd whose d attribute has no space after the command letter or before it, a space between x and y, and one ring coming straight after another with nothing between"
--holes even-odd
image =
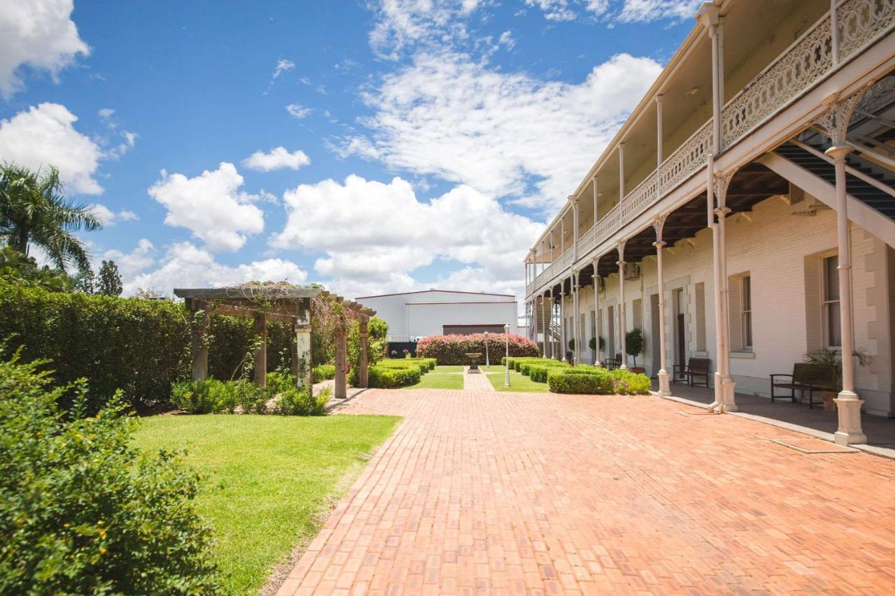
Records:
<instances>
[{"instance_id":1,"label":"nearest ground-floor verandah column, beside the staircase at far right","mask_svg":"<svg viewBox=\"0 0 895 596\"><path fill-rule=\"evenodd\" d=\"M844 135L843 135L844 136ZM842 390L837 396L839 430L834 435L840 445L866 443L861 428L861 406L855 391L855 336L851 305L851 245L848 238L848 196L845 181L845 157L851 148L834 145L826 150L836 170L836 239L839 244L840 328L842 336Z\"/></svg>"}]
</instances>

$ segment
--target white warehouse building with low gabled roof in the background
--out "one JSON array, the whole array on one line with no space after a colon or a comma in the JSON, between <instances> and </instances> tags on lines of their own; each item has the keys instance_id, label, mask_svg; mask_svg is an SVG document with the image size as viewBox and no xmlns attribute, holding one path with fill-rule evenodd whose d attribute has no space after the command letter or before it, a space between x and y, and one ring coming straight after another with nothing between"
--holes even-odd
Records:
<instances>
[{"instance_id":1,"label":"white warehouse building with low gabled roof in the background","mask_svg":"<svg viewBox=\"0 0 895 596\"><path fill-rule=\"evenodd\" d=\"M423 290L354 299L388 323L388 341L451 334L518 333L516 295L453 290Z\"/></svg>"}]
</instances>

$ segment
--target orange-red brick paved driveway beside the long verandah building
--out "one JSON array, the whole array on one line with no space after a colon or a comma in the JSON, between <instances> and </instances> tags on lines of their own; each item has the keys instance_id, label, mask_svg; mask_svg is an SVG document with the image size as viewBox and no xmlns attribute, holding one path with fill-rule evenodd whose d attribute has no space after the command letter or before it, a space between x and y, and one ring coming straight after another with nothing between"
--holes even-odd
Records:
<instances>
[{"instance_id":1,"label":"orange-red brick paved driveway beside the long verandah building","mask_svg":"<svg viewBox=\"0 0 895 596\"><path fill-rule=\"evenodd\" d=\"M405 416L281 593L895 592L895 462L656 397L373 390Z\"/></svg>"}]
</instances>

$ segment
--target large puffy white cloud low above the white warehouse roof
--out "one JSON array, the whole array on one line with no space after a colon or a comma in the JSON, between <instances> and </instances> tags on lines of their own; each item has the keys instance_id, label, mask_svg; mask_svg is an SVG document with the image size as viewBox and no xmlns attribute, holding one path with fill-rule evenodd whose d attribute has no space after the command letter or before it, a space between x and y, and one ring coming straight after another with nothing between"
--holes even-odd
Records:
<instances>
[{"instance_id":1,"label":"large puffy white cloud low above the white warehouse roof","mask_svg":"<svg viewBox=\"0 0 895 596\"><path fill-rule=\"evenodd\" d=\"M435 260L475 265L521 289L519 263L543 229L468 186L422 202L401 178L350 175L345 183L302 184L283 199L286 226L272 245L325 252L314 268L348 295L406 289L415 284L410 272Z\"/></svg>"}]
</instances>

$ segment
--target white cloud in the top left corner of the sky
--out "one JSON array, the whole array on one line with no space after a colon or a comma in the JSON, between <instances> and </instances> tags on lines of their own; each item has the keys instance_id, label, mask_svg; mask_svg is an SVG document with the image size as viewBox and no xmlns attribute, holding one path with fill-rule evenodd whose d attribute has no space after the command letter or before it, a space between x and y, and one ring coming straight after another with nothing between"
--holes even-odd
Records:
<instances>
[{"instance_id":1,"label":"white cloud in the top left corner of the sky","mask_svg":"<svg viewBox=\"0 0 895 596\"><path fill-rule=\"evenodd\" d=\"M49 72L72 64L90 47L72 21L73 0L7 0L0 10L0 95L23 89L22 65Z\"/></svg>"}]
</instances>

